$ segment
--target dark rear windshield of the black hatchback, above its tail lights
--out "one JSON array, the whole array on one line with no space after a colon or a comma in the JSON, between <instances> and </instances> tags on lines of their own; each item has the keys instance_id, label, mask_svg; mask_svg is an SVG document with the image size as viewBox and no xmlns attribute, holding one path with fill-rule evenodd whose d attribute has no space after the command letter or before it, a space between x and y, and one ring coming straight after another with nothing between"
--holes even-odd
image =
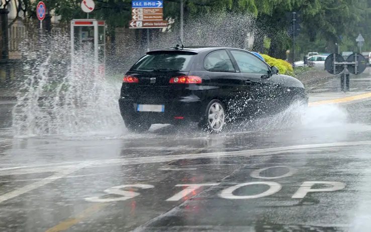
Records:
<instances>
[{"instance_id":1,"label":"dark rear windshield of the black hatchback, above its tail lights","mask_svg":"<svg viewBox=\"0 0 371 232\"><path fill-rule=\"evenodd\" d=\"M148 52L133 67L131 71L179 70L189 71L194 52L162 51Z\"/></svg>"}]
</instances>

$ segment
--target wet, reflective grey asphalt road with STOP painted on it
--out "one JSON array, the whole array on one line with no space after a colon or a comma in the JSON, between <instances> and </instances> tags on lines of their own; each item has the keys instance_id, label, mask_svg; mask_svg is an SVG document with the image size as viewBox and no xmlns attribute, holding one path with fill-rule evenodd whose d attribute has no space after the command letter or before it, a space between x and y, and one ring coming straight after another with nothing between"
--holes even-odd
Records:
<instances>
[{"instance_id":1,"label":"wet, reflective grey asphalt road with STOP painted on it","mask_svg":"<svg viewBox=\"0 0 371 232\"><path fill-rule=\"evenodd\" d=\"M0 102L0 231L371 231L370 104L221 135L14 138L13 102Z\"/></svg>"}]
</instances>

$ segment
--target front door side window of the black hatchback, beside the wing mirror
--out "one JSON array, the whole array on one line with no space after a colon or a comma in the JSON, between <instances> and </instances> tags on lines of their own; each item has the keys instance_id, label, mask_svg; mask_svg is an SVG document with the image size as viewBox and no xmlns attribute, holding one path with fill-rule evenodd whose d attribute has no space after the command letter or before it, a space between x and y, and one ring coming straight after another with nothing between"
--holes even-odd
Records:
<instances>
[{"instance_id":1,"label":"front door side window of the black hatchback, beside the wing mirror","mask_svg":"<svg viewBox=\"0 0 371 232\"><path fill-rule=\"evenodd\" d=\"M231 51L234 59L236 60L240 71L243 73L268 73L268 66L259 58L254 55L241 52L241 51Z\"/></svg>"}]
</instances>

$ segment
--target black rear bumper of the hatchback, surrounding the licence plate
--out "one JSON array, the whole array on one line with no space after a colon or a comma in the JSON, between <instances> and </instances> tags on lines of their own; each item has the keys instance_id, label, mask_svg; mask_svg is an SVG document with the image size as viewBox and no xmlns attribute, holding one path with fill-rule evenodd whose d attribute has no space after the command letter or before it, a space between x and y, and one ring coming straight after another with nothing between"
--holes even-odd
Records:
<instances>
[{"instance_id":1,"label":"black rear bumper of the hatchback, surrounding the licence plate","mask_svg":"<svg viewBox=\"0 0 371 232\"><path fill-rule=\"evenodd\" d=\"M163 104L164 112L137 111L138 104ZM166 102L148 102L145 100L133 100L121 97L119 99L119 106L121 116L124 120L136 119L150 122L151 124L199 122L203 117L203 103L200 99L178 99Z\"/></svg>"}]
</instances>

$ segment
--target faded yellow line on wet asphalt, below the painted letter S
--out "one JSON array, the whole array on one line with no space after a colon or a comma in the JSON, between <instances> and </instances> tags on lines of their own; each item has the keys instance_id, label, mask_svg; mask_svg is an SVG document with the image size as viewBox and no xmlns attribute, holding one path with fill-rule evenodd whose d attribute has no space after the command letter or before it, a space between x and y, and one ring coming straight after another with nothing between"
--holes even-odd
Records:
<instances>
[{"instance_id":1,"label":"faded yellow line on wet asphalt, below the painted letter S","mask_svg":"<svg viewBox=\"0 0 371 232\"><path fill-rule=\"evenodd\" d=\"M66 230L72 225L77 224L78 222L84 220L88 216L98 212L100 209L106 207L107 205L109 205L109 203L94 204L91 207L88 207L87 209L82 211L81 213L77 214L75 217L64 220L60 222L59 224L57 224L56 226L46 230L45 232L59 232L59 231Z\"/></svg>"}]
</instances>

